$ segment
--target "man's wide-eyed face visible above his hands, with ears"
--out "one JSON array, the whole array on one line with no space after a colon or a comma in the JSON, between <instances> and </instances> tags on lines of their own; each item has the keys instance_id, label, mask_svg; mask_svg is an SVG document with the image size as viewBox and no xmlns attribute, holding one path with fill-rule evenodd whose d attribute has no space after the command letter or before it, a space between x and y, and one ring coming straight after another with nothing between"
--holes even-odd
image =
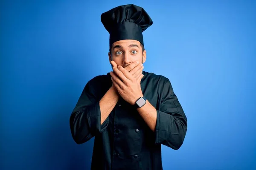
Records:
<instances>
[{"instance_id":1,"label":"man's wide-eyed face visible above his hands, with ears","mask_svg":"<svg viewBox=\"0 0 256 170\"><path fill-rule=\"evenodd\" d=\"M109 62L113 60L117 65L121 65L123 68L135 61L144 63L146 60L146 51L142 51L140 42L137 40L120 40L114 42L111 54L108 53Z\"/></svg>"}]
</instances>

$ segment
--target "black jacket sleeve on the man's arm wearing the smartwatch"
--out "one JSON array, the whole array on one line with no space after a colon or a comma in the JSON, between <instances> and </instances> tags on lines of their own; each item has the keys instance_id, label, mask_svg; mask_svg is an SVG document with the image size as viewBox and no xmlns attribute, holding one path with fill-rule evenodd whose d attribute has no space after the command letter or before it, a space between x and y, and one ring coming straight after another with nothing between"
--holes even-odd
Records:
<instances>
[{"instance_id":1,"label":"black jacket sleeve on the man's arm wearing the smartwatch","mask_svg":"<svg viewBox=\"0 0 256 170\"><path fill-rule=\"evenodd\" d=\"M164 83L160 102L157 110L155 144L164 144L177 150L183 144L186 135L187 119L169 79Z\"/></svg>"}]
</instances>

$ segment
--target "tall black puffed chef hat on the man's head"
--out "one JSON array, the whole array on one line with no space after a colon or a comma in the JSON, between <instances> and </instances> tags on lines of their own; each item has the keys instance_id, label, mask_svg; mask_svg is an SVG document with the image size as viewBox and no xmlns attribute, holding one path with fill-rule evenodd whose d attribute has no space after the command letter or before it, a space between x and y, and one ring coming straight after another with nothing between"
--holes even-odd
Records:
<instances>
[{"instance_id":1,"label":"tall black puffed chef hat on the man's head","mask_svg":"<svg viewBox=\"0 0 256 170\"><path fill-rule=\"evenodd\" d=\"M109 32L109 45L119 40L138 40L144 45L142 32L153 21L140 6L117 6L101 15L101 22Z\"/></svg>"}]
</instances>

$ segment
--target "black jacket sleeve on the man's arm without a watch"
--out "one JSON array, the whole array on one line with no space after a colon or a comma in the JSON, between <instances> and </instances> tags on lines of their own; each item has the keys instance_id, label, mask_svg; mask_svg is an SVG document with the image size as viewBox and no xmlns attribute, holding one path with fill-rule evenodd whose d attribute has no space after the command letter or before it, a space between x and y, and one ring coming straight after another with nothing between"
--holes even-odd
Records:
<instances>
[{"instance_id":1,"label":"black jacket sleeve on the man's arm without a watch","mask_svg":"<svg viewBox=\"0 0 256 170\"><path fill-rule=\"evenodd\" d=\"M108 126L109 118L100 125L99 99L90 81L85 85L79 100L70 116L70 130L74 141L82 144L102 133Z\"/></svg>"}]
</instances>

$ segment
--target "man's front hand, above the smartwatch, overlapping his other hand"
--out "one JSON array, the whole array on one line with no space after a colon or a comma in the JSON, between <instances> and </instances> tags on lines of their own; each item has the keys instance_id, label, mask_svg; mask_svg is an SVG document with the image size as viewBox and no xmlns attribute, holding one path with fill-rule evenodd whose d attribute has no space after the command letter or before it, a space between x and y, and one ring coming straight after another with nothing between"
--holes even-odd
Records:
<instances>
[{"instance_id":1,"label":"man's front hand, above the smartwatch, overlapping his other hand","mask_svg":"<svg viewBox=\"0 0 256 170\"><path fill-rule=\"evenodd\" d=\"M126 102L135 105L137 99L143 96L140 81L144 75L140 76L141 78L138 82L131 73L121 65L119 65L119 68L113 67L113 71L114 72L111 71L110 74L116 90Z\"/></svg>"}]
</instances>

